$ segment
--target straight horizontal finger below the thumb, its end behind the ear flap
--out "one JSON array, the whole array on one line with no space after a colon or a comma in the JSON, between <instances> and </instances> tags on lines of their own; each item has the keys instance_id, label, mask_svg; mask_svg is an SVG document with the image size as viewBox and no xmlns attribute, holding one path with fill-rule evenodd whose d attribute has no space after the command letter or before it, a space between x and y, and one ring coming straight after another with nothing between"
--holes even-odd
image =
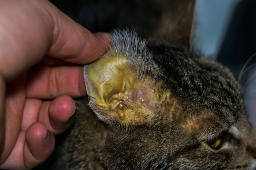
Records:
<instances>
[{"instance_id":1,"label":"straight horizontal finger below the thumb, its end behind the ear flap","mask_svg":"<svg viewBox=\"0 0 256 170\"><path fill-rule=\"evenodd\" d=\"M29 70L26 82L28 98L53 99L60 95L73 98L86 95L82 66L36 65Z\"/></svg>"}]
</instances>

